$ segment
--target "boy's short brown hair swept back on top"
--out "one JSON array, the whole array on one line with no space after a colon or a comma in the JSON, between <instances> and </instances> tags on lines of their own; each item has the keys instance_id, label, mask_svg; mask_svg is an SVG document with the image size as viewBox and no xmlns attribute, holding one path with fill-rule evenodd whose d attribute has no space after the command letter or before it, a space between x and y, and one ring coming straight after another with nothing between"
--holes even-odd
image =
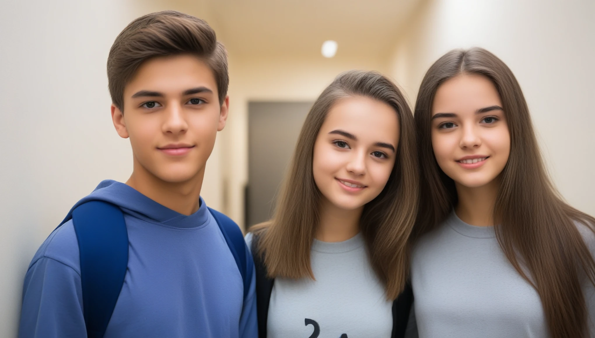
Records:
<instances>
[{"instance_id":1,"label":"boy's short brown hair swept back on top","mask_svg":"<svg viewBox=\"0 0 595 338\"><path fill-rule=\"evenodd\" d=\"M189 53L213 71L219 102L227 95L227 52L206 21L177 11L161 11L132 21L116 37L108 56L108 86L114 105L124 111L124 87L149 58Z\"/></svg>"}]
</instances>

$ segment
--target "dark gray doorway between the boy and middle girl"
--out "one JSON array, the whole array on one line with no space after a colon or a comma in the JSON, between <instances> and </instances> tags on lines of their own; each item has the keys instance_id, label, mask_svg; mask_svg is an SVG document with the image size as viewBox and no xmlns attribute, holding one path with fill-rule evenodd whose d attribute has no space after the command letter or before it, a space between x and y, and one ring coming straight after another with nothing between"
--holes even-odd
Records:
<instances>
[{"instance_id":1,"label":"dark gray doorway between the boy and middle girl","mask_svg":"<svg viewBox=\"0 0 595 338\"><path fill-rule=\"evenodd\" d=\"M312 102L249 102L246 225L270 219Z\"/></svg>"}]
</instances>

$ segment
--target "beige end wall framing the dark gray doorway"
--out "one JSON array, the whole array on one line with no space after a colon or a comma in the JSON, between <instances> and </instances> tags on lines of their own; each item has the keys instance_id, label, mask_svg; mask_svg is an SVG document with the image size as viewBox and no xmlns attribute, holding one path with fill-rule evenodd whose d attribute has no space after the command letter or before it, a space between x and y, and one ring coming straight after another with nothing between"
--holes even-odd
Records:
<instances>
[{"instance_id":1,"label":"beige end wall framing the dark gray doorway","mask_svg":"<svg viewBox=\"0 0 595 338\"><path fill-rule=\"evenodd\" d=\"M314 101L342 71L385 70L385 60L373 56L325 59L292 56L236 57L230 48L230 116L223 131L221 159L227 187L224 210L243 226L243 189L248 180L248 102L250 100ZM293 151L293 150L288 150Z\"/></svg>"}]
</instances>

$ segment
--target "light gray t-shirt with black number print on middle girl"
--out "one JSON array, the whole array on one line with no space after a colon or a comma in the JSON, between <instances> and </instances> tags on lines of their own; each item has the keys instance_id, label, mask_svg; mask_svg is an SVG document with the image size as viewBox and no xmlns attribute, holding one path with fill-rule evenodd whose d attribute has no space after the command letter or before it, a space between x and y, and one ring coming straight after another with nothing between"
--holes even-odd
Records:
<instances>
[{"instance_id":1,"label":"light gray t-shirt with black number print on middle girl","mask_svg":"<svg viewBox=\"0 0 595 338\"><path fill-rule=\"evenodd\" d=\"M372 270L362 235L335 243L315 239L311 252L316 280L275 279L267 337L390 338L393 302Z\"/></svg>"}]
</instances>

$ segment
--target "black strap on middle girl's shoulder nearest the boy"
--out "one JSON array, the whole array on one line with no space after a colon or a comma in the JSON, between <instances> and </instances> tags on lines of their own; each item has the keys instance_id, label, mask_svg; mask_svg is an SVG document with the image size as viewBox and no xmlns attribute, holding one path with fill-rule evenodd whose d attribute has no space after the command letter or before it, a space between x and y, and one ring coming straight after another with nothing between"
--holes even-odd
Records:
<instances>
[{"instance_id":1,"label":"black strap on middle girl's shoulder nearest the boy","mask_svg":"<svg viewBox=\"0 0 595 338\"><path fill-rule=\"evenodd\" d=\"M267 317L268 304L271 301L274 279L267 277L267 267L264 265L264 257L258 254L259 235L254 234L252 238L252 258L254 260L254 271L256 272L256 317L258 318L258 338L267 338Z\"/></svg>"}]
</instances>

